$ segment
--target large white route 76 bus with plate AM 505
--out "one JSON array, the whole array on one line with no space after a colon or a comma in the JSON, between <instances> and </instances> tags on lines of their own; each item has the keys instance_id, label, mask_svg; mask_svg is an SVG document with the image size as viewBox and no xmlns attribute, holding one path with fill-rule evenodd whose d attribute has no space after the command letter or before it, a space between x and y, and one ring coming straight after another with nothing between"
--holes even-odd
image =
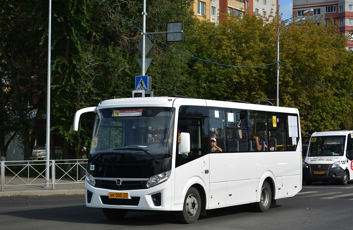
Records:
<instances>
[{"instance_id":1,"label":"large white route 76 bus with plate AM 505","mask_svg":"<svg viewBox=\"0 0 353 230\"><path fill-rule=\"evenodd\" d=\"M233 205L265 212L301 190L298 109L182 96L110 99L78 110L74 131L88 111L96 115L86 206L109 219L175 211L194 223Z\"/></svg>"}]
</instances>

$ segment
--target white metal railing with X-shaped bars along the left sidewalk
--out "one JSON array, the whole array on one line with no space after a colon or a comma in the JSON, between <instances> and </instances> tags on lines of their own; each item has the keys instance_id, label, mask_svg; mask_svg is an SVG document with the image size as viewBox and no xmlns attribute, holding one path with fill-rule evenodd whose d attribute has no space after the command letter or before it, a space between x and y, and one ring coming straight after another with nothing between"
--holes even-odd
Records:
<instances>
[{"instance_id":1,"label":"white metal railing with X-shaped bars along the left sidewalk","mask_svg":"<svg viewBox=\"0 0 353 230\"><path fill-rule=\"evenodd\" d=\"M87 159L50 161L1 161L1 191L14 186L84 183ZM49 178L46 178L49 170Z\"/></svg>"}]
</instances>

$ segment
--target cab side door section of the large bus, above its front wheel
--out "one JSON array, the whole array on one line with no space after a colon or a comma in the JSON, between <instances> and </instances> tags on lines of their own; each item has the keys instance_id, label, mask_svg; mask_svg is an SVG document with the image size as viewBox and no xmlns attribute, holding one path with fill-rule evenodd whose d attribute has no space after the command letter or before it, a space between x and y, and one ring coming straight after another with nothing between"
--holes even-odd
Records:
<instances>
[{"instance_id":1,"label":"cab side door section of the large bus, above its front wheel","mask_svg":"<svg viewBox=\"0 0 353 230\"><path fill-rule=\"evenodd\" d=\"M175 204L184 201L185 192L193 184L201 184L206 194L209 189L208 129L205 118L179 115L178 129L190 133L190 152L175 159ZM200 192L201 193L201 192Z\"/></svg>"}]
</instances>

